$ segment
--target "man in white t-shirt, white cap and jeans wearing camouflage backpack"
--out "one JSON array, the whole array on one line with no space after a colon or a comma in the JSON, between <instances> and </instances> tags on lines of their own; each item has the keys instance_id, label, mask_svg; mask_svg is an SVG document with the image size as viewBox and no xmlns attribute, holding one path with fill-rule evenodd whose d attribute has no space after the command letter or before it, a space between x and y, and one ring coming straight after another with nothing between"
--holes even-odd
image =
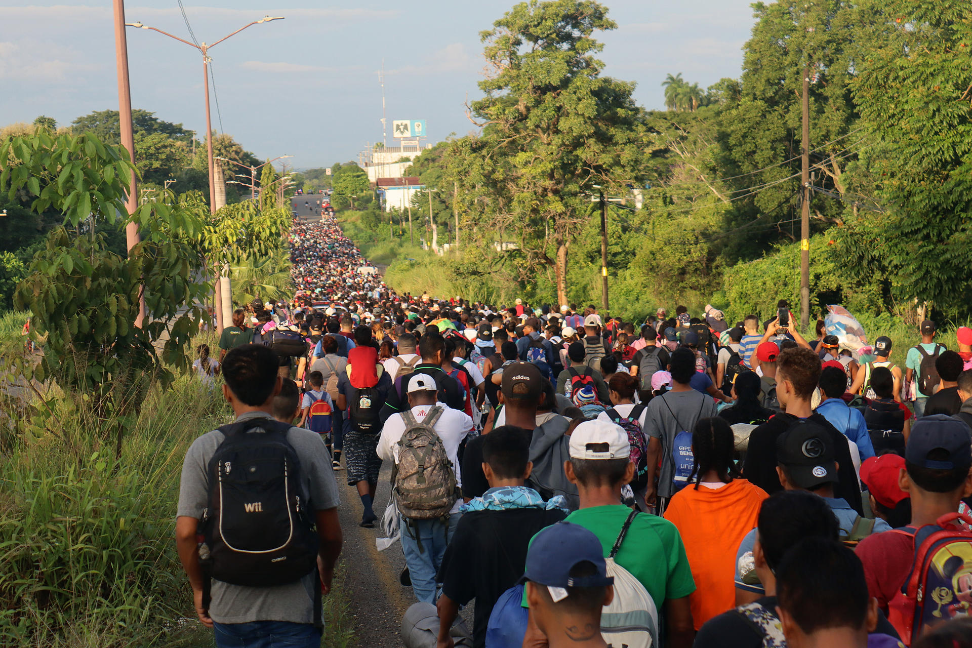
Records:
<instances>
[{"instance_id":1,"label":"man in white t-shirt, white cap and jeans wearing camouflage backpack","mask_svg":"<svg viewBox=\"0 0 972 648\"><path fill-rule=\"evenodd\" d=\"M408 404L411 406L412 416L422 422L434 407L442 409L442 414L433 426L445 454L452 461L456 472L456 482L462 487L463 478L459 469L459 444L462 443L472 428L472 419L466 412L446 407L444 403L436 402L437 392L435 379L429 374L415 374L408 380ZM405 421L401 414L393 414L385 422L378 438L378 457L383 460L398 462L399 440L405 431ZM435 602L435 573L442 563L445 548L452 539L452 534L459 524L459 507L462 498L457 498L449 513L449 521L441 520L404 520L401 521L401 550L405 555L412 581L412 591L420 601ZM406 528L407 524L407 528Z\"/></svg>"}]
</instances>

